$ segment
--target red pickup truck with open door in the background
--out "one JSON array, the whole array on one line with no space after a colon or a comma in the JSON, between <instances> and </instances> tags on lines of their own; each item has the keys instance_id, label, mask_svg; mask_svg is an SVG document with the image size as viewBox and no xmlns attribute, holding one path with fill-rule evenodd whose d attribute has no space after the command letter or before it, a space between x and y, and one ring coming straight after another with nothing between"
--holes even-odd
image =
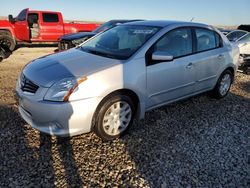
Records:
<instances>
[{"instance_id":1,"label":"red pickup truck with open door in the background","mask_svg":"<svg viewBox=\"0 0 250 188\"><path fill-rule=\"evenodd\" d=\"M99 24L64 23L60 12L24 9L17 17L0 20L0 42L11 51L19 42L57 42L68 33L92 31Z\"/></svg>"}]
</instances>

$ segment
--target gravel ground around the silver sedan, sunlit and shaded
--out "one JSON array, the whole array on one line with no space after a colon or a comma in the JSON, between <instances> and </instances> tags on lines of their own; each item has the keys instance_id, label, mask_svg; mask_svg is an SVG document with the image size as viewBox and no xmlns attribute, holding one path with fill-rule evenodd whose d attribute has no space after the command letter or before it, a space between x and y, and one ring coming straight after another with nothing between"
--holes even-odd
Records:
<instances>
[{"instance_id":1,"label":"gravel ground around the silver sedan, sunlit and shaded","mask_svg":"<svg viewBox=\"0 0 250 188\"><path fill-rule=\"evenodd\" d=\"M20 48L0 63L0 187L249 187L250 76L222 100L206 94L162 107L102 142L32 129L13 98L17 75L54 48Z\"/></svg>"}]
</instances>

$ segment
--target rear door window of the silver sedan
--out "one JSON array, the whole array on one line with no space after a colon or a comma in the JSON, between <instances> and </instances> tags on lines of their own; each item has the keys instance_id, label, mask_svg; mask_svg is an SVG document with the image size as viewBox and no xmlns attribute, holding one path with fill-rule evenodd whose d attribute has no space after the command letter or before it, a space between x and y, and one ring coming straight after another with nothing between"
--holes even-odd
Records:
<instances>
[{"instance_id":1,"label":"rear door window of the silver sedan","mask_svg":"<svg viewBox=\"0 0 250 188\"><path fill-rule=\"evenodd\" d=\"M220 46L220 37L212 30L195 29L197 38L197 52L214 49Z\"/></svg>"}]
</instances>

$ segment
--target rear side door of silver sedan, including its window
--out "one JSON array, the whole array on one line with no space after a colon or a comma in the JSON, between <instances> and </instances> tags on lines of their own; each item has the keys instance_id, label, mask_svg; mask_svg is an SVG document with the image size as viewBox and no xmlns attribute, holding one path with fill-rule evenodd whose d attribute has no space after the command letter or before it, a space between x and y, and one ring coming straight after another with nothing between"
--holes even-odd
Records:
<instances>
[{"instance_id":1,"label":"rear side door of silver sedan, including its window","mask_svg":"<svg viewBox=\"0 0 250 188\"><path fill-rule=\"evenodd\" d=\"M196 70L195 91L211 89L217 79L217 73L221 65L225 64L226 51L222 48L220 35L206 28L194 28L196 41Z\"/></svg>"}]
</instances>

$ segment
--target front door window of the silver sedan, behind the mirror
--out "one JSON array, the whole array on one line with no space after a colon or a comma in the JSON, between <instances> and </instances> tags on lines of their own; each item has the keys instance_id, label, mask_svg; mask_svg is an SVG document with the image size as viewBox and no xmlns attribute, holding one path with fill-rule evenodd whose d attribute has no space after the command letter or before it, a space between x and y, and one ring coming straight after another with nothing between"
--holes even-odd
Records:
<instances>
[{"instance_id":1,"label":"front door window of the silver sedan, behind the mirror","mask_svg":"<svg viewBox=\"0 0 250 188\"><path fill-rule=\"evenodd\" d=\"M154 51L166 52L174 58L192 53L192 32L190 28L180 28L168 32L155 45Z\"/></svg>"}]
</instances>

